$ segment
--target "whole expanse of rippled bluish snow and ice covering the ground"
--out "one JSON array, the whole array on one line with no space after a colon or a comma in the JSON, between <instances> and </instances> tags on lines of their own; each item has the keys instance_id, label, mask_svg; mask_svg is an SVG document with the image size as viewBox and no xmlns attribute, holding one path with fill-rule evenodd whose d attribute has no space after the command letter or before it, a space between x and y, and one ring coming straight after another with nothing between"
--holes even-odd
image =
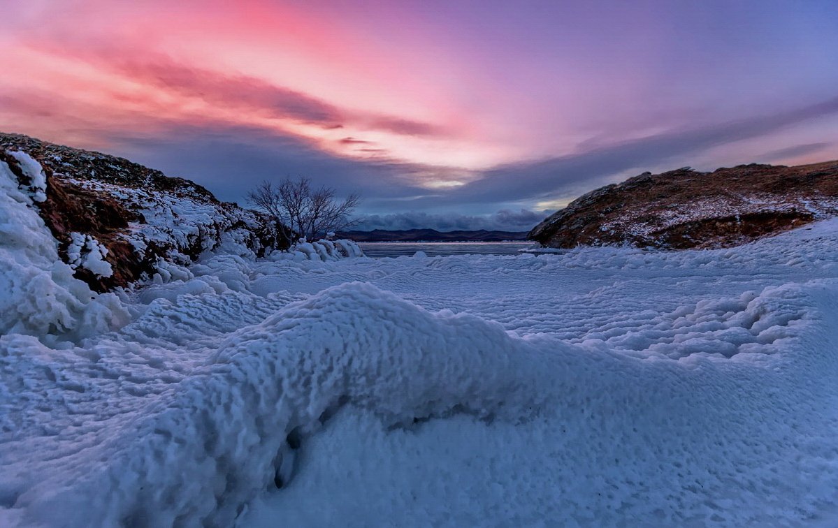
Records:
<instances>
[{"instance_id":1,"label":"whole expanse of rippled bluish snow and ice covering the ground","mask_svg":"<svg viewBox=\"0 0 838 528\"><path fill-rule=\"evenodd\" d=\"M838 221L679 253L228 241L85 297L0 196L0 525L838 522Z\"/></svg>"}]
</instances>

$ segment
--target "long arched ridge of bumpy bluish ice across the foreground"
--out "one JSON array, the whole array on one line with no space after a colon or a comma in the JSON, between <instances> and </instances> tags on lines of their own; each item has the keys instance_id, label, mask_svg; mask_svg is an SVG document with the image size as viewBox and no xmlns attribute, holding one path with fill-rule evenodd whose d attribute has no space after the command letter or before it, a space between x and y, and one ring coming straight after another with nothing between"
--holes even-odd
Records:
<instances>
[{"instance_id":1,"label":"long arched ridge of bumpy bluish ice across the foreground","mask_svg":"<svg viewBox=\"0 0 838 528\"><path fill-rule=\"evenodd\" d=\"M809 289L828 296L835 285ZM779 300L773 305L789 313L813 302L799 287L769 288L760 298L763 308ZM746 305L753 308L753 299ZM47 462L39 469L43 479L8 502L21 525L228 526L261 490L294 478L295 449L342 406L375 413L385 428L454 413L524 423L545 409L566 413L560 420L570 427L580 411L587 420L615 405L649 409L660 405L655 398L666 415L689 415L696 403L685 395L703 393L711 408L770 422L759 396L767 384L757 382L754 369L789 360L805 364L812 357L779 356L762 367L719 358L658 360L649 369L602 343L515 338L474 315L434 314L375 286L348 283L230 334L183 382L109 424L116 430L104 443ZM686 375L685 367L698 371ZM753 398L734 399L731 409L731 383L746 372L741 368L757 383L749 389ZM765 368L763 377L770 375ZM632 387L639 379L656 387L654 397ZM638 419L642 414L634 411ZM693 415L682 425L701 430L713 419ZM602 433L595 438L607 440ZM61 470L51 472L52 464Z\"/></svg>"}]
</instances>

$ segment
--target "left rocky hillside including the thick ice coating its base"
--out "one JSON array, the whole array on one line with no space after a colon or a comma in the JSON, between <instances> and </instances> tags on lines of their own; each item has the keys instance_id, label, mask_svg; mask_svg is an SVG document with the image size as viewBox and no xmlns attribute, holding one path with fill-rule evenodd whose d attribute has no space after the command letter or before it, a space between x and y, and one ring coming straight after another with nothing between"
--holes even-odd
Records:
<instances>
[{"instance_id":1,"label":"left rocky hillside including the thick ice coating its base","mask_svg":"<svg viewBox=\"0 0 838 528\"><path fill-rule=\"evenodd\" d=\"M116 328L133 286L189 281L208 264L227 269L191 291L237 289L235 266L258 258L363 256L349 240L282 247L269 223L122 158L0 134L0 335Z\"/></svg>"}]
</instances>

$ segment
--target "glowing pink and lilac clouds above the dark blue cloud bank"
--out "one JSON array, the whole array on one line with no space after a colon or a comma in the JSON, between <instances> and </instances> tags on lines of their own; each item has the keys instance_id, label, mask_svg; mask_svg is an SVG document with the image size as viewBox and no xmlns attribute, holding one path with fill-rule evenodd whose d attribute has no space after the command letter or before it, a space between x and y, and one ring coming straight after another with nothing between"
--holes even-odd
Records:
<instances>
[{"instance_id":1,"label":"glowing pink and lilac clouds above the dark blue cloud bank","mask_svg":"<svg viewBox=\"0 0 838 528\"><path fill-rule=\"evenodd\" d=\"M741 10L727 8L8 4L4 128L104 143L126 129L243 126L329 156L453 167L456 181L407 176L443 187L491 167L794 108L838 81L823 51L838 44L830 34L810 43L784 33L794 45L783 47L758 37L787 16L742 11L742 26ZM818 141L782 134L789 145ZM749 147L742 161L763 151Z\"/></svg>"}]
</instances>

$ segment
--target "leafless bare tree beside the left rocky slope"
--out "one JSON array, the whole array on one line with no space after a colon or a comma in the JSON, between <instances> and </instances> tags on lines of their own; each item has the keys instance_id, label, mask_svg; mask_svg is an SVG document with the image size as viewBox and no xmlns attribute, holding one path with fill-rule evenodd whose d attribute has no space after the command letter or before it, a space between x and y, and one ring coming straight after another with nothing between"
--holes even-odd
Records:
<instances>
[{"instance_id":1,"label":"leafless bare tree beside the left rocky slope","mask_svg":"<svg viewBox=\"0 0 838 528\"><path fill-rule=\"evenodd\" d=\"M261 182L247 193L247 201L269 214L277 228L284 225L293 233L287 236L307 237L309 240L318 235L349 228L357 223L351 218L358 207L360 197L350 194L339 202L334 197L334 189L320 187L312 190L311 182L306 177L292 180L286 178L278 185ZM279 232L287 232L280 229ZM292 240L289 239L289 243Z\"/></svg>"}]
</instances>

